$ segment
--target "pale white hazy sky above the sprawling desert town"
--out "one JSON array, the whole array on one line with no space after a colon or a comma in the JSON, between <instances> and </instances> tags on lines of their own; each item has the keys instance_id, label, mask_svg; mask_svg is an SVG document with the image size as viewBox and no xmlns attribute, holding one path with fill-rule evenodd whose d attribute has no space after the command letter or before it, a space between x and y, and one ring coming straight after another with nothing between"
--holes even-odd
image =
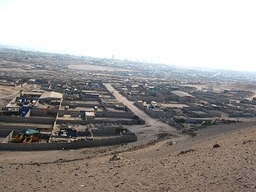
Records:
<instances>
[{"instance_id":1,"label":"pale white hazy sky above the sprawling desert town","mask_svg":"<svg viewBox=\"0 0 256 192\"><path fill-rule=\"evenodd\" d=\"M256 1L0 0L0 44L256 71Z\"/></svg>"}]
</instances>

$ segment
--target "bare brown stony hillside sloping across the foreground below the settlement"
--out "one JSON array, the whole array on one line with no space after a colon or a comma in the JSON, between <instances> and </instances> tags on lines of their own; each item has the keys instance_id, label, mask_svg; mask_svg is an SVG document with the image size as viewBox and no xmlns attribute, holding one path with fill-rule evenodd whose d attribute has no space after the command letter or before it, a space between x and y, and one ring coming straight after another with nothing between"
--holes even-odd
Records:
<instances>
[{"instance_id":1,"label":"bare brown stony hillside sloping across the foreground below the settlement","mask_svg":"<svg viewBox=\"0 0 256 192\"><path fill-rule=\"evenodd\" d=\"M111 153L121 159L109 161ZM0 152L0 191L256 191L255 180L253 123L137 148Z\"/></svg>"}]
</instances>

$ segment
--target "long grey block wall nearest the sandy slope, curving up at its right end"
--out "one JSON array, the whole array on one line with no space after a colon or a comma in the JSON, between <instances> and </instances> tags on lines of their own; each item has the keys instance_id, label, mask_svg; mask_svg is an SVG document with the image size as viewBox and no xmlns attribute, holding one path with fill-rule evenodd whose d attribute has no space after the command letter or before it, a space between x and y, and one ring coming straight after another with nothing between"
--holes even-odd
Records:
<instances>
[{"instance_id":1,"label":"long grey block wall nearest the sandy slope, curving up at its right end","mask_svg":"<svg viewBox=\"0 0 256 192\"><path fill-rule=\"evenodd\" d=\"M57 150L57 149L78 149L93 146L111 146L126 142L137 141L137 135L123 135L109 139L95 139L93 141L78 142L48 142L48 143L1 143L0 150L10 151L36 151L36 150Z\"/></svg>"}]
</instances>

